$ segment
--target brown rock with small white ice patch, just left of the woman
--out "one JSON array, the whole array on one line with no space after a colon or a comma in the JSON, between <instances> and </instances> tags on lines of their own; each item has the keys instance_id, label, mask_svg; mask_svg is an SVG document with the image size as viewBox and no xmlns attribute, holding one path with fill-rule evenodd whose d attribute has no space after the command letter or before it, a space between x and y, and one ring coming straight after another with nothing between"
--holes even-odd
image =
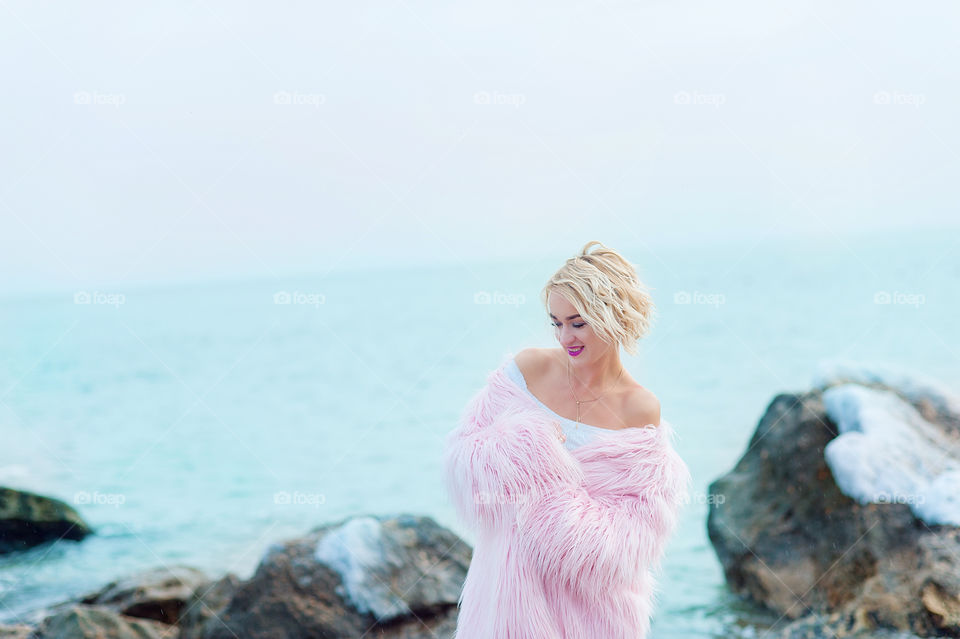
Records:
<instances>
[{"instance_id":1,"label":"brown rock with small white ice patch, just left of the woman","mask_svg":"<svg viewBox=\"0 0 960 639\"><path fill-rule=\"evenodd\" d=\"M204 639L449 637L470 556L429 517L322 526L271 547Z\"/></svg>"}]
</instances>

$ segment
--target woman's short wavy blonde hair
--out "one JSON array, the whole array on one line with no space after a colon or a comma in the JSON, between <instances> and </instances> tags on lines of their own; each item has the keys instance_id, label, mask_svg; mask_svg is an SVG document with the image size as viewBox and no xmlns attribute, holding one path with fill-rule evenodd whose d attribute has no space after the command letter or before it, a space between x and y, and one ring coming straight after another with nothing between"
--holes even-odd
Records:
<instances>
[{"instance_id":1,"label":"woman's short wavy blonde hair","mask_svg":"<svg viewBox=\"0 0 960 639\"><path fill-rule=\"evenodd\" d=\"M600 248L590 253L590 247ZM568 259L540 292L549 312L551 292L563 295L607 344L620 344L631 355L650 332L656 307L630 262L596 240Z\"/></svg>"}]
</instances>

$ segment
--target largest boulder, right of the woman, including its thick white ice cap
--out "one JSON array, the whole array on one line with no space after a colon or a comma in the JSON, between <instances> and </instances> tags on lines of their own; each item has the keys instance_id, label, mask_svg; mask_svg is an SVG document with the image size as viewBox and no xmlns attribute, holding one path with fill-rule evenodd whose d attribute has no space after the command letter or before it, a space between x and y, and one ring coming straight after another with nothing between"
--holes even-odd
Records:
<instances>
[{"instance_id":1,"label":"largest boulder, right of the woman, including its thick white ice cap","mask_svg":"<svg viewBox=\"0 0 960 639\"><path fill-rule=\"evenodd\" d=\"M960 636L956 394L836 361L814 381L774 397L710 484L728 585L794 620L781 639Z\"/></svg>"}]
</instances>

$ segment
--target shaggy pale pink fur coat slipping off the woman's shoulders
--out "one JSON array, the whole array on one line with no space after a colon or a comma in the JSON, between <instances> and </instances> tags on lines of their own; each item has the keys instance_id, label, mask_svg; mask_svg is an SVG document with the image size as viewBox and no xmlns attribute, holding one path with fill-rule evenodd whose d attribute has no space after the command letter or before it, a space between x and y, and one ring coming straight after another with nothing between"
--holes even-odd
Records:
<instances>
[{"instance_id":1,"label":"shaggy pale pink fur coat slipping off the woman's shoulders","mask_svg":"<svg viewBox=\"0 0 960 639\"><path fill-rule=\"evenodd\" d=\"M457 515L477 535L456 639L643 639L690 472L672 427L573 450L557 419L491 372L444 444Z\"/></svg>"}]
</instances>

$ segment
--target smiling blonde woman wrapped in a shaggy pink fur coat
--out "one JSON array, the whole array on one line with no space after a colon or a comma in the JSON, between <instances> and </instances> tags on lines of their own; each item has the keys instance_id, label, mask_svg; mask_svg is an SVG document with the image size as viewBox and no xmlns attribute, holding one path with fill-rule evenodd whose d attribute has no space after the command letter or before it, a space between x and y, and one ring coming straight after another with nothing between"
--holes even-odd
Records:
<instances>
[{"instance_id":1,"label":"smiling blonde woman wrapped in a shaggy pink fur coat","mask_svg":"<svg viewBox=\"0 0 960 639\"><path fill-rule=\"evenodd\" d=\"M654 305L595 241L542 300L561 348L506 357L445 442L448 491L477 535L456 638L642 639L690 483L657 398L620 362Z\"/></svg>"}]
</instances>

